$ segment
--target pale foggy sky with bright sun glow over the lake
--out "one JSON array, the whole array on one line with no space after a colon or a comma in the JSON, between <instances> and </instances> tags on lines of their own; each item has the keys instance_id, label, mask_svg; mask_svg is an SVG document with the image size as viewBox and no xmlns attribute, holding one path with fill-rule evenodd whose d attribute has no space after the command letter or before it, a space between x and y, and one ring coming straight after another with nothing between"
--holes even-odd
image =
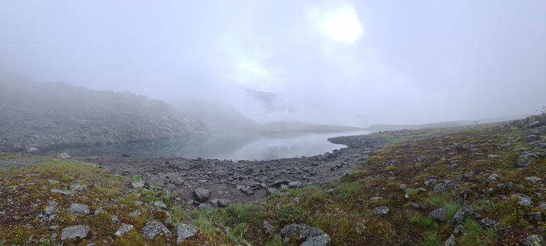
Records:
<instances>
[{"instance_id":1,"label":"pale foggy sky with bright sun glow over the lake","mask_svg":"<svg viewBox=\"0 0 546 246\"><path fill-rule=\"evenodd\" d=\"M0 68L173 103L280 92L320 119L482 119L546 105L545 13L543 0L6 0Z\"/></svg>"}]
</instances>

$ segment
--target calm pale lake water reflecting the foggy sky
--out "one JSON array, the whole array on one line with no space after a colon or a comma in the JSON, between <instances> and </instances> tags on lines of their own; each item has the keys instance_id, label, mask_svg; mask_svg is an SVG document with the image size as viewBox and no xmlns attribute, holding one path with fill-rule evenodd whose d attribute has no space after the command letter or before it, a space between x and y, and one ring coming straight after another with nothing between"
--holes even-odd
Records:
<instances>
[{"instance_id":1,"label":"calm pale lake water reflecting the foggy sky","mask_svg":"<svg viewBox=\"0 0 546 246\"><path fill-rule=\"evenodd\" d=\"M144 143L101 145L65 149L68 154L99 154L138 157L185 157L220 160L272 160L296 156L315 156L338 150L345 145L330 143L334 136L369 134L370 132L338 132L316 134L290 132L283 134L230 133L194 136Z\"/></svg>"}]
</instances>

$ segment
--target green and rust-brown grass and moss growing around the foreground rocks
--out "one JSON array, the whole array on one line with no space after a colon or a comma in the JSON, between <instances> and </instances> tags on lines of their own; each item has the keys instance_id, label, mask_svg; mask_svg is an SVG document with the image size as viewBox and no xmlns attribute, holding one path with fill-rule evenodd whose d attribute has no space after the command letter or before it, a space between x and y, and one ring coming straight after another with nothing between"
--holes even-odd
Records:
<instances>
[{"instance_id":1,"label":"green and rust-brown grass and moss growing around the foreground rocks","mask_svg":"<svg viewBox=\"0 0 546 246\"><path fill-rule=\"evenodd\" d=\"M17 215L19 219L1 221L0 238L4 241L0 243L21 244L30 235L34 239L49 237L54 232L60 234L62 227L86 223L94 234L83 240L67 240L65 245L172 244L174 235L159 236L153 242L146 242L139 235L146 221L153 218L163 221L166 217L152 205L135 205L133 201L163 200L172 216L170 223L165 223L170 229L179 221L200 229L197 236L188 238L183 245L236 245L236 241L252 245L299 245L300 242L294 240L283 242L279 236L280 230L290 223L320 227L332 237L332 245L443 245L454 234L455 225L449 221L434 221L429 218L429 212L447 207L448 218L451 218L462 205L473 205L484 218L500 223L500 228L487 229L479 225L479 221L467 218L463 222L467 232L456 234L458 245L517 245L525 236L544 234L546 229L545 210L538 208L538 203L546 200L545 196L538 195L544 194L545 184L524 179L527 176L546 178L546 158L537 158L523 169L516 167L520 153L514 148L532 146L525 141L524 132L528 129L511 130L511 126L492 124L372 134L389 143L373 152L339 183L284 190L283 194L273 194L259 203L230 205L212 211L193 210L178 204L174 196L163 192L161 187L126 190L128 181L104 174L96 167L53 161L23 170L8 170L0 173L0 211ZM503 157L488 158L487 154ZM451 169L446 167L454 164ZM465 176L471 171L474 175ZM25 175L29 173L38 175ZM494 173L503 176L487 182ZM425 185L431 176L437 176L438 183L455 179L460 187L448 188L446 192L434 191L434 185ZM50 185L48 179L61 183ZM70 183L85 183L88 191L75 196L49 192L52 187L63 189ZM18 187L6 189L10 185ZM334 189L334 194L327 194L327 189ZM405 194L410 198L404 198ZM518 205L516 198L510 198L512 194L526 194L534 205ZM382 198L370 199L375 196ZM291 201L294 197L299 198L299 203ZM12 200L8 203L8 199ZM43 211L47 201L59 202L60 216L55 221L40 223L34 219L35 214ZM425 209L411 206L423 201L428 203ZM106 213L66 214L65 209L72 202L88 204L92 212L100 206ZM378 216L372 212L374 207L382 205L390 208L388 214ZM135 209L142 215L129 216ZM533 212L539 212L543 220L532 219ZM119 225L112 223L110 215L119 216L121 222L130 223L135 229L120 238L112 238ZM274 232L262 229L264 220L274 226ZM52 225L61 227L51 230ZM223 227L231 229L226 232Z\"/></svg>"}]
</instances>

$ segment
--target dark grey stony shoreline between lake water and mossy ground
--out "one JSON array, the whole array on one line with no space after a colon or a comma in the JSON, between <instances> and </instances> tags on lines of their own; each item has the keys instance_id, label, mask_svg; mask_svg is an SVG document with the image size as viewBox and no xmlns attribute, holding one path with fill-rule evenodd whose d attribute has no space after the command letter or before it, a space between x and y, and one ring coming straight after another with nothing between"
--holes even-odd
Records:
<instances>
[{"instance_id":1,"label":"dark grey stony shoreline between lake water and mossy ground","mask_svg":"<svg viewBox=\"0 0 546 246\"><path fill-rule=\"evenodd\" d=\"M145 185L168 187L179 199L194 205L200 205L195 201L195 189L206 189L210 194L208 201L225 199L237 204L259 201L272 192L272 188L277 189L281 185L336 182L358 163L365 161L372 150L385 143L382 139L365 135L339 136L328 140L347 147L318 156L269 161L83 155L72 155L70 160L96 165L109 174L126 178L138 176ZM0 169L16 163L41 161L42 158L35 157L0 159Z\"/></svg>"}]
</instances>

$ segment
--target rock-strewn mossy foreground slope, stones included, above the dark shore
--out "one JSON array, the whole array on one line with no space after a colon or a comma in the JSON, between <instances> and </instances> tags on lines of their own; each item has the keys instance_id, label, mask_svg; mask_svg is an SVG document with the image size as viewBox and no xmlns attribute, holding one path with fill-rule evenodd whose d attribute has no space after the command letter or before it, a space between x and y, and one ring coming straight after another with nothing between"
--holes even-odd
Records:
<instances>
[{"instance_id":1,"label":"rock-strewn mossy foreground slope, stones included, above the dark shore","mask_svg":"<svg viewBox=\"0 0 546 246\"><path fill-rule=\"evenodd\" d=\"M370 153L370 137L386 144ZM245 204L188 176L150 183L63 155L0 154L0 244L546 245L546 114L331 141L370 156L326 185L266 180L269 196Z\"/></svg>"}]
</instances>

